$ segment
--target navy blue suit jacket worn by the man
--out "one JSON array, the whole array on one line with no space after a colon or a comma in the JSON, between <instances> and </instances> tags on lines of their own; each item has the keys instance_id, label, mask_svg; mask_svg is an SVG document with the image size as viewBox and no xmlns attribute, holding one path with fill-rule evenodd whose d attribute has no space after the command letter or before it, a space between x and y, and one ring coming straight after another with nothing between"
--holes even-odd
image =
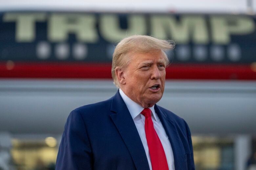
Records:
<instances>
[{"instance_id":1,"label":"navy blue suit jacket worn by the man","mask_svg":"<svg viewBox=\"0 0 256 170\"><path fill-rule=\"evenodd\" d=\"M194 170L186 122L160 106L156 113L172 146L175 170ZM56 170L149 170L132 116L117 91L112 98L73 110L59 146Z\"/></svg>"}]
</instances>

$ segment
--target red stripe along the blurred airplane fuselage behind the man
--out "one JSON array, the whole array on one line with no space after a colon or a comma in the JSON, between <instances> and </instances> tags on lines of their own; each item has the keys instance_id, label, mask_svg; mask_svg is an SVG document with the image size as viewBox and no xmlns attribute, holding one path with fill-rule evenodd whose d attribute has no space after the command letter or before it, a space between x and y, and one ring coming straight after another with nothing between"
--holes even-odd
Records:
<instances>
[{"instance_id":1,"label":"red stripe along the blurred airplane fuselage behind the man","mask_svg":"<svg viewBox=\"0 0 256 170\"><path fill-rule=\"evenodd\" d=\"M111 63L0 62L1 78L111 78ZM255 80L251 64L175 64L166 68L167 79Z\"/></svg>"}]
</instances>

